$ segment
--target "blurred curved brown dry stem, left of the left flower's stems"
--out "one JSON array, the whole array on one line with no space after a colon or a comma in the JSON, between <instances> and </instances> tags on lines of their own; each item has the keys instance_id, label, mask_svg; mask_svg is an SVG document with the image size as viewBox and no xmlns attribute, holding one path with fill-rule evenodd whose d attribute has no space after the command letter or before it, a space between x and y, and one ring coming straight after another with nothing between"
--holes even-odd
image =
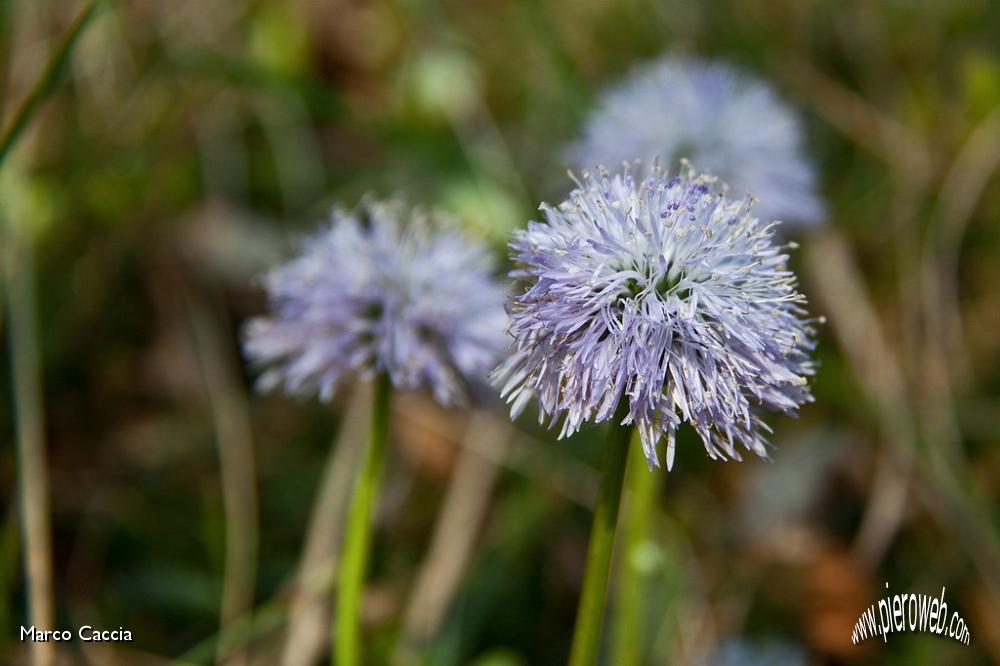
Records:
<instances>
[{"instance_id":1,"label":"blurred curved brown dry stem, left of the left flower's stems","mask_svg":"<svg viewBox=\"0 0 1000 666\"><path fill-rule=\"evenodd\" d=\"M250 408L217 318L194 296L189 298L188 311L219 447L226 531L219 623L224 627L250 613L257 579L257 474ZM221 641L219 651L221 661L221 655L228 653ZM247 657L236 651L227 662L243 664Z\"/></svg>"}]
</instances>

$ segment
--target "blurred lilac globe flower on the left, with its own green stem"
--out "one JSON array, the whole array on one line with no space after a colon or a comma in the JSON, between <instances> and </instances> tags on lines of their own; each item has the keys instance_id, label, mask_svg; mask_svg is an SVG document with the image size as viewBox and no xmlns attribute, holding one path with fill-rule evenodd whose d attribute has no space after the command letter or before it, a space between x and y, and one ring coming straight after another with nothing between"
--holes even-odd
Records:
<instances>
[{"instance_id":1,"label":"blurred lilac globe flower on the left, with its own green stem","mask_svg":"<svg viewBox=\"0 0 1000 666\"><path fill-rule=\"evenodd\" d=\"M326 400L349 374L387 372L397 388L463 400L507 345L492 268L485 246L401 202L334 210L266 277L271 313L245 330L258 387Z\"/></svg>"}]
</instances>

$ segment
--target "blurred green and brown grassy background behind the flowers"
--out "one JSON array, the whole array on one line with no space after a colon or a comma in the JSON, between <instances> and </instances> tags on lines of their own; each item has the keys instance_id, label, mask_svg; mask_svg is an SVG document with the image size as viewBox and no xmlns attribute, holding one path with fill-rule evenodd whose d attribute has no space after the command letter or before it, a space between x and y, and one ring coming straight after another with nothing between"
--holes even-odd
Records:
<instances>
[{"instance_id":1,"label":"blurred green and brown grassy background behind the flowers","mask_svg":"<svg viewBox=\"0 0 1000 666\"><path fill-rule=\"evenodd\" d=\"M0 2L4 127L84 7ZM685 432L656 475L656 529L618 565L647 593L641 663L1000 663L998 36L989 0L100 3L0 168L0 662L28 659L19 438L47 449L57 626L134 637L65 663L324 660L366 393L253 393L257 276L367 192L504 256L568 189L596 93L672 52L803 114L830 216L794 262L828 321L771 461ZM400 398L371 663L562 663L600 441ZM886 583L946 587L972 644L852 645Z\"/></svg>"}]
</instances>

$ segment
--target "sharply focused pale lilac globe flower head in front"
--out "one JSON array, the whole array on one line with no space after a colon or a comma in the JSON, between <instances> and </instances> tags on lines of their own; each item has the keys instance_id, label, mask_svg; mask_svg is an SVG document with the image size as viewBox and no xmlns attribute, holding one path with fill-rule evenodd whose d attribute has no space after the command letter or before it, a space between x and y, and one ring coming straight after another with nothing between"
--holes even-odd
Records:
<instances>
[{"instance_id":1,"label":"sharply focused pale lilac globe flower head in front","mask_svg":"<svg viewBox=\"0 0 1000 666\"><path fill-rule=\"evenodd\" d=\"M751 216L710 176L653 169L584 174L547 223L516 232L508 308L515 350L494 371L517 416L538 401L560 437L628 401L650 465L686 421L713 458L736 443L765 456L760 408L811 401L812 320L788 270L777 223Z\"/></svg>"}]
</instances>

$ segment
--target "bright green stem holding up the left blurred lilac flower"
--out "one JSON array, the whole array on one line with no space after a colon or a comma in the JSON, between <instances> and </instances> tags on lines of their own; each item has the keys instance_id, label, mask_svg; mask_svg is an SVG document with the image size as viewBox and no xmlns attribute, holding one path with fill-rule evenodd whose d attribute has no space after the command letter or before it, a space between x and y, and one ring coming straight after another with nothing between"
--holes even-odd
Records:
<instances>
[{"instance_id":1,"label":"bright green stem holding up the left blurred lilac flower","mask_svg":"<svg viewBox=\"0 0 1000 666\"><path fill-rule=\"evenodd\" d=\"M333 664L358 666L361 663L361 600L365 565L372 541L372 513L378 495L385 449L389 434L389 404L392 382L387 374L375 380L375 397L368 450L354 483L351 510L347 518L343 556L337 579L337 613L333 634Z\"/></svg>"}]
</instances>

